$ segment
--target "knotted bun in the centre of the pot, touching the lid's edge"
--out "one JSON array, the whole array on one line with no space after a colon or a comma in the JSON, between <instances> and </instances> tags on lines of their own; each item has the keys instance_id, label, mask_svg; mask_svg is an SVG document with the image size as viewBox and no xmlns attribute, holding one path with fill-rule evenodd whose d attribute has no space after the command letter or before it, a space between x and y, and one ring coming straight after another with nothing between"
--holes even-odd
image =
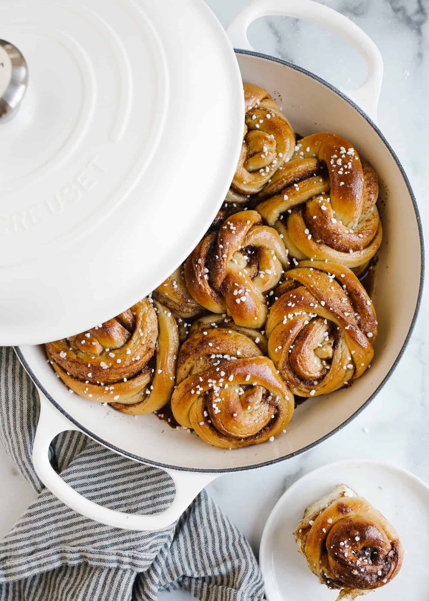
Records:
<instances>
[{"instance_id":1,"label":"knotted bun in the centre of the pot, touching the lid's edge","mask_svg":"<svg viewBox=\"0 0 429 601\"><path fill-rule=\"evenodd\" d=\"M184 277L196 302L211 313L228 313L237 325L261 328L267 299L288 266L278 232L256 211L231 215L205 236L187 258Z\"/></svg>"}]
</instances>

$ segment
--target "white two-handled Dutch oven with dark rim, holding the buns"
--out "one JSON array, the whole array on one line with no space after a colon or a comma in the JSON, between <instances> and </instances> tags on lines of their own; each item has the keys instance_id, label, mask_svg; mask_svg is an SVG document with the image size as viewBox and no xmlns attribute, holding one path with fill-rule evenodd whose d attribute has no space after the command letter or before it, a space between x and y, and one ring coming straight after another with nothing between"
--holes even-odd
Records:
<instances>
[{"instance_id":1,"label":"white two-handled Dutch oven with dark rim, holding the buns","mask_svg":"<svg viewBox=\"0 0 429 601\"><path fill-rule=\"evenodd\" d=\"M246 29L252 20L267 14L302 17L342 35L367 60L364 85L342 93L312 73L254 52ZM407 176L376 125L383 71L377 47L346 17L309 0L255 0L239 14L227 33L234 47L240 48L236 58L243 81L255 82L281 98L284 114L296 131L302 135L315 130L339 133L370 160L379 174L384 238L373 296L379 320L374 362L351 388L310 398L297 407L286 432L275 442L224 451L184 430L169 429L153 415L134 419L70 395L47 364L43 347L17 348L20 360L40 390L40 421L33 450L38 475L76 511L119 528L166 526L177 519L205 484L220 474L288 459L337 432L386 383L409 341L418 312L423 283L422 230ZM177 258L183 259L184 253ZM165 469L176 486L171 507L154 516L127 515L99 507L78 495L53 471L48 460L50 441L59 432L70 429L81 430L124 456Z\"/></svg>"}]
</instances>

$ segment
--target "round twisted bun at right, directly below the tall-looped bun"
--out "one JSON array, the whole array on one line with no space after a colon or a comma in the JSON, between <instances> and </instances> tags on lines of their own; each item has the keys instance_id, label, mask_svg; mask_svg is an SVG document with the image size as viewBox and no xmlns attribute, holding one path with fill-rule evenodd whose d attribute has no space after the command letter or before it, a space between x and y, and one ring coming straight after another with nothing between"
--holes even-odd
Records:
<instances>
[{"instance_id":1,"label":"round twisted bun at right, directly below the tall-looped bun","mask_svg":"<svg viewBox=\"0 0 429 601\"><path fill-rule=\"evenodd\" d=\"M377 320L356 275L338 263L301 261L284 277L266 335L269 356L294 394L326 394L362 376Z\"/></svg>"}]
</instances>

